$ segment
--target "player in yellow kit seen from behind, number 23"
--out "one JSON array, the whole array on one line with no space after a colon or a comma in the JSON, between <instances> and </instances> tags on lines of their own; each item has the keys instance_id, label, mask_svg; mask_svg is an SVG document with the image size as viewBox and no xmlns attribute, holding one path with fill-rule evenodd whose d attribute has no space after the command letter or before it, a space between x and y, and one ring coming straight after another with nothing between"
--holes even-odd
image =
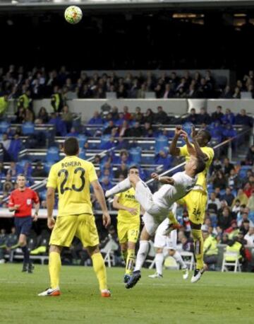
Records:
<instances>
[{"instance_id":1,"label":"player in yellow kit seen from behind, number 23","mask_svg":"<svg viewBox=\"0 0 254 324\"><path fill-rule=\"evenodd\" d=\"M110 216L104 192L92 163L78 158L79 145L75 137L64 141L66 157L55 163L47 181L47 225L53 228L49 241L49 277L51 287L39 296L60 295L59 275L61 270L61 250L69 247L74 236L80 238L92 259L92 265L99 281L102 297L110 297L107 287L107 274L104 260L99 252L99 237L92 213L90 185L102 208L103 224L109 226ZM56 221L52 216L55 191L59 192L59 210Z\"/></svg>"}]
</instances>

